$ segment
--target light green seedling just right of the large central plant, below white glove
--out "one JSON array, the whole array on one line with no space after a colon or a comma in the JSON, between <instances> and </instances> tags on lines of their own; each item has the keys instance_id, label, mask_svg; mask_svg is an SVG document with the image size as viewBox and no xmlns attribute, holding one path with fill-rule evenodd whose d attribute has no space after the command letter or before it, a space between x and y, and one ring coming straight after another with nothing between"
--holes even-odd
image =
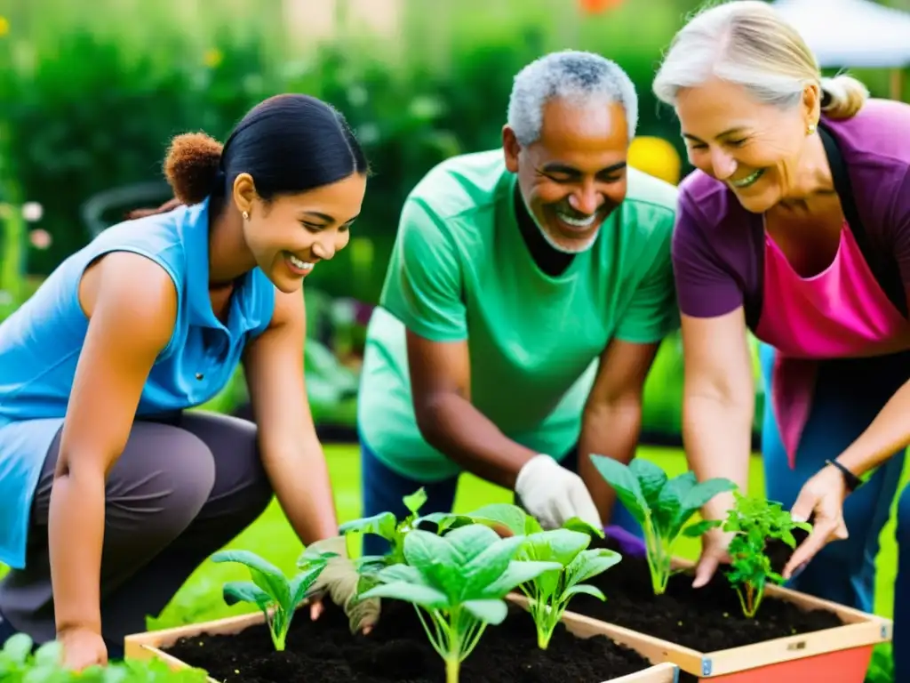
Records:
<instances>
[{"instance_id":1,"label":"light green seedling just right of the large central plant, below white glove","mask_svg":"<svg viewBox=\"0 0 910 683\"><path fill-rule=\"evenodd\" d=\"M543 572L521 585L537 627L537 645L547 649L556 625L572 596L585 593L606 600L602 591L582 583L606 571L622 556L606 548L589 549L591 535L571 529L552 529L525 537L516 559L555 563L559 569Z\"/></svg>"}]
</instances>

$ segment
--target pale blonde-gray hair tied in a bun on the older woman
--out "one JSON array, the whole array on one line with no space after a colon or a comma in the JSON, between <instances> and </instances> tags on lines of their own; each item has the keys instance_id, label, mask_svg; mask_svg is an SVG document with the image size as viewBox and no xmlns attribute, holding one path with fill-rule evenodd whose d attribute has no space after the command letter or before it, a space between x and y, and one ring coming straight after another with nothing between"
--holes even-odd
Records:
<instances>
[{"instance_id":1,"label":"pale blonde-gray hair tied in a bun on the older woman","mask_svg":"<svg viewBox=\"0 0 910 683\"><path fill-rule=\"evenodd\" d=\"M762 0L710 6L673 37L654 78L654 95L674 105L682 88L712 76L743 86L764 104L794 107L809 84L822 92L822 111L853 117L869 91L845 74L823 78L818 62L796 29Z\"/></svg>"}]
</instances>

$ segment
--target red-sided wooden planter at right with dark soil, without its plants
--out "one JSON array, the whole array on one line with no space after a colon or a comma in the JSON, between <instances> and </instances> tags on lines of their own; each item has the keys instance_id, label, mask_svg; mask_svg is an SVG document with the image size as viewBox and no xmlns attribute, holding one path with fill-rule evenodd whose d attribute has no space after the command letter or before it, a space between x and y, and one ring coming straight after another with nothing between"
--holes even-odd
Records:
<instances>
[{"instance_id":1,"label":"red-sided wooden planter at right with dark soil, without its plants","mask_svg":"<svg viewBox=\"0 0 910 683\"><path fill-rule=\"evenodd\" d=\"M744 617L723 568L693 588L693 564L673 564L682 573L655 596L645 559L624 556L591 579L606 601L576 596L566 615L591 619L652 661L676 664L681 683L863 683L873 648L891 639L889 619L780 586L767 586L755 617Z\"/></svg>"}]
</instances>

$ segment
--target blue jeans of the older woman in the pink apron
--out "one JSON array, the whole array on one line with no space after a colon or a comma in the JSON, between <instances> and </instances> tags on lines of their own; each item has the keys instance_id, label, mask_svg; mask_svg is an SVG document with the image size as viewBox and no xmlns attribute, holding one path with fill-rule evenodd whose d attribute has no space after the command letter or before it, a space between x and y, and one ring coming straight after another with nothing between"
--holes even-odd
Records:
<instances>
[{"instance_id":1,"label":"blue jeans of the older woman in the pink apron","mask_svg":"<svg viewBox=\"0 0 910 683\"><path fill-rule=\"evenodd\" d=\"M803 484L825 459L841 454L865 431L885 403L910 376L910 354L823 362L814 403L796 452L795 469L787 462L771 408L771 369L774 350L759 350L767 388L762 455L766 494L789 508ZM799 576L788 584L826 600L872 612L875 599L875 556L878 538L888 521L904 468L904 451L893 454L873 476L844 501L844 522L850 536L826 545ZM910 605L910 489L897 506L898 574L895 583L895 680L910 680L910 633L905 608ZM902 569L903 567L903 569Z\"/></svg>"}]
</instances>

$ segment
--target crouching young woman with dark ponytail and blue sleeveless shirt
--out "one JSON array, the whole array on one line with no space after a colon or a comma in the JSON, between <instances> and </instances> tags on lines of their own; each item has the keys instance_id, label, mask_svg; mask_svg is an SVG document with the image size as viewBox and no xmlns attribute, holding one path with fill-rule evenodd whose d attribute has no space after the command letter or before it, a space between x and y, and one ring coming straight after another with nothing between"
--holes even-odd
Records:
<instances>
[{"instance_id":1,"label":"crouching young woman with dark ponytail and blue sleeveless shirt","mask_svg":"<svg viewBox=\"0 0 910 683\"><path fill-rule=\"evenodd\" d=\"M364 154L334 108L282 95L223 146L177 136L165 173L173 200L0 325L0 640L56 637L72 668L119 656L273 493L304 544L338 535L300 288L348 244ZM256 424L187 410L238 364Z\"/></svg>"}]
</instances>

